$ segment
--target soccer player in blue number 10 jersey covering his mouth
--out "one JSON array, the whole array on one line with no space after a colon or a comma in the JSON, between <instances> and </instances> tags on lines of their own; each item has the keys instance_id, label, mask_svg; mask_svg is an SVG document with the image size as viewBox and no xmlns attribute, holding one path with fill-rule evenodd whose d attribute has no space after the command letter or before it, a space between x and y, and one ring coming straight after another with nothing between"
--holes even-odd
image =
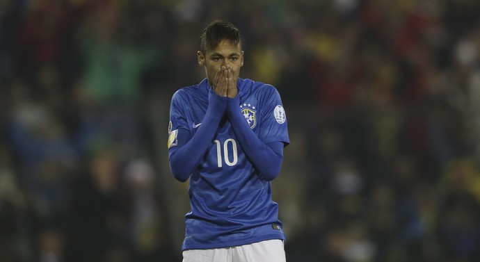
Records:
<instances>
[{"instance_id":1,"label":"soccer player in blue number 10 jersey covering his mouth","mask_svg":"<svg viewBox=\"0 0 480 262\"><path fill-rule=\"evenodd\" d=\"M215 20L202 31L197 57L207 78L175 92L168 124L170 170L190 179L183 261L285 261L271 199L289 144L280 95L239 78L241 37L230 22Z\"/></svg>"}]
</instances>

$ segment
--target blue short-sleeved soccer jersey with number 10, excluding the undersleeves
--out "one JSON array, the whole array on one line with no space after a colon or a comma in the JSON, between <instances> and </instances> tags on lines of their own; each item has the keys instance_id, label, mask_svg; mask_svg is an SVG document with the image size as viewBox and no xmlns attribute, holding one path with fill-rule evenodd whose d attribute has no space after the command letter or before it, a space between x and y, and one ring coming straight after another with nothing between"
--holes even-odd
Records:
<instances>
[{"instance_id":1,"label":"blue short-sleeved soccer jersey with number 10, excluding the undersleeves","mask_svg":"<svg viewBox=\"0 0 480 262\"><path fill-rule=\"evenodd\" d=\"M289 143L287 119L278 91L250 79L237 82L239 110L265 144ZM182 88L173 95L169 133L179 129L191 137L207 112L209 85ZM172 136L173 137L173 136ZM169 153L175 148L170 140ZM218 126L202 162L190 176L191 211L185 215L182 249L211 249L282 239L278 204L271 199L271 182L263 180L243 152L228 120Z\"/></svg>"}]
</instances>

